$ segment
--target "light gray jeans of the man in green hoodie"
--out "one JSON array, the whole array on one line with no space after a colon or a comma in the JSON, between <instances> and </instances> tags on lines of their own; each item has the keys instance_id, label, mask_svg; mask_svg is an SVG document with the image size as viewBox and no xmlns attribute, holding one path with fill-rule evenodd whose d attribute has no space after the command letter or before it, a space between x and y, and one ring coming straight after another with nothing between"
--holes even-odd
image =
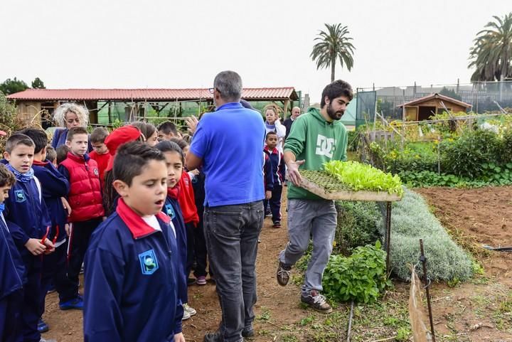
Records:
<instances>
[{"instance_id":1,"label":"light gray jeans of the man in green hoodie","mask_svg":"<svg viewBox=\"0 0 512 342\"><path fill-rule=\"evenodd\" d=\"M302 294L311 289L322 290L321 279L332 252L337 223L334 201L329 200L288 200L288 238L285 250L279 253L284 266L293 266L313 238L313 252L306 270Z\"/></svg>"}]
</instances>

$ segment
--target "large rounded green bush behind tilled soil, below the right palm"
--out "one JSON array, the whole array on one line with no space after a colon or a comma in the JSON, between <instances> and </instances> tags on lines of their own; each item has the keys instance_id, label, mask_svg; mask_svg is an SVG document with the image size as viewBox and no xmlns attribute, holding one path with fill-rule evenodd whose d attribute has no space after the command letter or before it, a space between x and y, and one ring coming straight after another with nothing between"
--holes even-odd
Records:
<instances>
[{"instance_id":1,"label":"large rounded green bush behind tilled soil, below the right palm","mask_svg":"<svg viewBox=\"0 0 512 342\"><path fill-rule=\"evenodd\" d=\"M483 164L498 159L501 141L489 130L465 132L455 141L445 140L439 146L441 169L455 176L478 178L484 173Z\"/></svg>"}]
</instances>

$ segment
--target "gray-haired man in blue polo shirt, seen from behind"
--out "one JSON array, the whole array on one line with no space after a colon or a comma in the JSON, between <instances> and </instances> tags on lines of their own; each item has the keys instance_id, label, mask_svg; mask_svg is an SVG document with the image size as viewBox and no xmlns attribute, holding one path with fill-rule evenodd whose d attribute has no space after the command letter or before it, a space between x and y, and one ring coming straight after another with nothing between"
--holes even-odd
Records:
<instances>
[{"instance_id":1,"label":"gray-haired man in blue polo shirt, seen from behind","mask_svg":"<svg viewBox=\"0 0 512 342\"><path fill-rule=\"evenodd\" d=\"M212 90L210 90L212 91ZM203 115L186 154L188 169L206 174L204 228L223 321L204 341L254 335L257 240L264 220L260 113L242 107L242 79L223 71L213 81L215 112Z\"/></svg>"}]
</instances>

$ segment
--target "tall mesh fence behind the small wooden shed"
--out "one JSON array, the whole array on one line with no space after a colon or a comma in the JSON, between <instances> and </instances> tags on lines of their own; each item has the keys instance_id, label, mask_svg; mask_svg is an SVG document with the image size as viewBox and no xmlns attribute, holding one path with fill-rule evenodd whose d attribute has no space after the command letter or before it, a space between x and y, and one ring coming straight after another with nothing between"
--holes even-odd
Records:
<instances>
[{"instance_id":1,"label":"tall mesh fence behind the small wooden shed","mask_svg":"<svg viewBox=\"0 0 512 342\"><path fill-rule=\"evenodd\" d=\"M375 91L377 110L383 112L387 119L402 119L400 105L435 92L466 102L476 113L499 110L500 107L512 107L512 81L456 83L427 87L415 84L405 87L358 88L357 91L358 96L361 93Z\"/></svg>"}]
</instances>

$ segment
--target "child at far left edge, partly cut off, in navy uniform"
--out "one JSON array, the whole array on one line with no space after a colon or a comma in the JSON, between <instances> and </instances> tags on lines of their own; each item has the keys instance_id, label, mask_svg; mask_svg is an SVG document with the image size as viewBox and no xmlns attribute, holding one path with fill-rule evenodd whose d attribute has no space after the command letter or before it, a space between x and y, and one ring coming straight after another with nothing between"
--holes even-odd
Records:
<instances>
[{"instance_id":1,"label":"child at far left edge, partly cut off, in navy uniform","mask_svg":"<svg viewBox=\"0 0 512 342\"><path fill-rule=\"evenodd\" d=\"M16 342L21 336L21 306L25 266L4 219L4 201L16 179L0 164L0 341Z\"/></svg>"}]
</instances>

